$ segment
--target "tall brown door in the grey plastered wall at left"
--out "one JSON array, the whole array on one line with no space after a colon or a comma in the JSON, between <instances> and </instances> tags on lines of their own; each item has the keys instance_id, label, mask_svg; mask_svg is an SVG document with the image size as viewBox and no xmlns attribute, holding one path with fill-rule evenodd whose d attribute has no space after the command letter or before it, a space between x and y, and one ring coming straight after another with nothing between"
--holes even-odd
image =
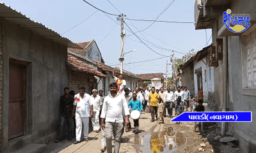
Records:
<instances>
[{"instance_id":1,"label":"tall brown door in the grey plastered wall at left","mask_svg":"<svg viewBox=\"0 0 256 153\"><path fill-rule=\"evenodd\" d=\"M10 63L8 139L23 135L24 66Z\"/></svg>"}]
</instances>

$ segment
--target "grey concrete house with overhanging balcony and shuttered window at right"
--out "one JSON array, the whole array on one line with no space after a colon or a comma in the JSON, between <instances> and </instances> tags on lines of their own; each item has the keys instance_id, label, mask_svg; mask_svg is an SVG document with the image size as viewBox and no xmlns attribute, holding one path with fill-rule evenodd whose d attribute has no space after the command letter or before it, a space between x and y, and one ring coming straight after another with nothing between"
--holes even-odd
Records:
<instances>
[{"instance_id":1,"label":"grey concrete house with overhanging balcony and shuttered window at right","mask_svg":"<svg viewBox=\"0 0 256 153\"><path fill-rule=\"evenodd\" d=\"M256 107L255 4L254 0L195 1L195 29L212 29L208 63L214 70L214 111L253 112ZM223 22L227 10L232 17L250 17L248 29L242 33L228 30ZM255 118L256 114L252 113L252 119ZM255 152L256 131L252 130L255 121L220 124L221 134L228 131L234 135L242 152Z\"/></svg>"}]
</instances>

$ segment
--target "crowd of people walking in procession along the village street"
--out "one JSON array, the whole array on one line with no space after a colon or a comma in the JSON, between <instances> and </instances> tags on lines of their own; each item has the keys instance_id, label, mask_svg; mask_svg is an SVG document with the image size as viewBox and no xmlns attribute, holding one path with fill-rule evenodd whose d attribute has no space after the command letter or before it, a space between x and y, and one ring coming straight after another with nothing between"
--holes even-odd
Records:
<instances>
[{"instance_id":1,"label":"crowd of people walking in procession along the village street","mask_svg":"<svg viewBox=\"0 0 256 153\"><path fill-rule=\"evenodd\" d=\"M68 126L68 140L72 140L72 133L76 133L76 142L81 142L83 129L83 139L88 141L89 120L92 120L93 131L102 132L100 149L102 152L112 152L112 137L115 138L114 152L119 152L122 135L131 130L130 117L134 121L134 130L139 133L139 119L141 112L146 108L151 113L151 122L159 121L164 123L164 117L173 117L180 115L190 109L201 111L202 99L199 99L201 105L196 106L196 99L190 94L187 87L177 87L173 93L170 87L164 92L163 87L160 90L155 87L135 88L134 91L126 88L126 82L123 75L113 78L115 82L109 85L110 94L104 96L102 90L92 90L92 95L85 93L84 87L79 87L79 93L69 91L68 87L64 89L64 95L60 98L60 131L56 142L60 142L65 122ZM167 110L167 111L166 111ZM75 123L75 129L72 124ZM177 122L179 124L179 122ZM83 125L83 128L82 128ZM200 126L196 123L196 126Z\"/></svg>"}]
</instances>

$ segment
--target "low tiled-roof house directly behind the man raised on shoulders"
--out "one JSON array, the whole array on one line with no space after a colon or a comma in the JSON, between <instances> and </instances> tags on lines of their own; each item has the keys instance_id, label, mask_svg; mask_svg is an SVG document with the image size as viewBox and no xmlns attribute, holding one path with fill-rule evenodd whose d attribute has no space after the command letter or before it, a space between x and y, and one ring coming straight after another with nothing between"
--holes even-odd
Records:
<instances>
[{"instance_id":1,"label":"low tiled-roof house directly behind the man raised on shoulders","mask_svg":"<svg viewBox=\"0 0 256 153\"><path fill-rule=\"evenodd\" d=\"M102 79L102 87L101 87L101 89L104 91L104 95L106 96L110 94L109 84L111 84L112 82L115 82L114 78L112 77L112 72L115 68L112 68L111 66L107 66L102 62L97 62L97 64L98 64L99 71L101 71L106 75L106 77ZM119 74L120 74L120 69L116 68L115 76L118 77ZM123 78L126 81L126 87L130 88L131 91L134 91L134 89L138 87L138 82L140 82L140 77L138 77L137 75L129 71L123 70Z\"/></svg>"}]
</instances>

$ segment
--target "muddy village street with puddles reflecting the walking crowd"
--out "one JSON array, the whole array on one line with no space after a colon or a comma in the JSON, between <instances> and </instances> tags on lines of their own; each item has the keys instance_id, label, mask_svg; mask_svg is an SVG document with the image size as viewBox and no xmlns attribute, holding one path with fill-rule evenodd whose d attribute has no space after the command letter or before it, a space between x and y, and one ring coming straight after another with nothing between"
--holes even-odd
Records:
<instances>
[{"instance_id":1,"label":"muddy village street with puddles reflecting the walking crowd","mask_svg":"<svg viewBox=\"0 0 256 153\"><path fill-rule=\"evenodd\" d=\"M207 107L206 107L207 110ZM132 127L133 121L132 119ZM205 133L194 132L194 122L181 122L180 125L170 122L170 118L165 118L165 124L150 122L150 113L143 112L140 117L141 133L134 134L132 131L124 132L120 153L139 153L139 152L239 152L239 148L232 148L227 143L213 140L220 135L220 128L216 124L205 125ZM209 128L211 125L212 129ZM211 133L211 134L210 134ZM210 135L209 135L210 134ZM208 135L208 136L207 136ZM89 142L81 142L76 145L67 140L60 143L49 143L44 153L79 153L79 152L100 152L101 133L91 132ZM207 136L208 140L202 141ZM170 143L170 138L175 143ZM74 139L73 139L74 142ZM154 143L152 143L154 142ZM170 144L173 144L170 147ZM114 143L113 143L114 145ZM203 147L200 147L202 145ZM163 146L163 150L160 147ZM198 151L198 149L204 149Z\"/></svg>"}]
</instances>

